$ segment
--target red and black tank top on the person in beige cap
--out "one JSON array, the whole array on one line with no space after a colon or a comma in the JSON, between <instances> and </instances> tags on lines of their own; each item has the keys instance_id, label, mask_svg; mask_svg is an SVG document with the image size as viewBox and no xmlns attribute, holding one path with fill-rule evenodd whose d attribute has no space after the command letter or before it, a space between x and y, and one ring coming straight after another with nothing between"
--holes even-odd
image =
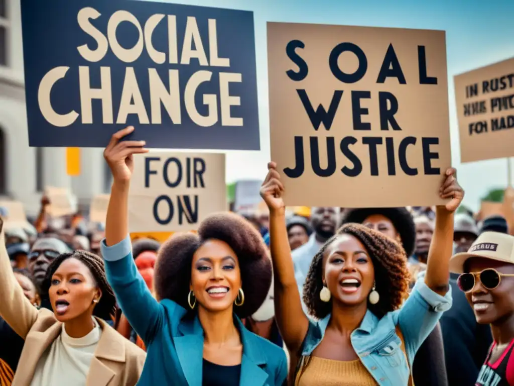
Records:
<instances>
[{"instance_id":1,"label":"red and black tank top on the person in beige cap","mask_svg":"<svg viewBox=\"0 0 514 386\"><path fill-rule=\"evenodd\" d=\"M496 342L493 342L489 348L489 354L482 365L475 386L514 386L514 356L512 355L514 339L505 348L500 358L490 363L489 358L495 345Z\"/></svg>"}]
</instances>

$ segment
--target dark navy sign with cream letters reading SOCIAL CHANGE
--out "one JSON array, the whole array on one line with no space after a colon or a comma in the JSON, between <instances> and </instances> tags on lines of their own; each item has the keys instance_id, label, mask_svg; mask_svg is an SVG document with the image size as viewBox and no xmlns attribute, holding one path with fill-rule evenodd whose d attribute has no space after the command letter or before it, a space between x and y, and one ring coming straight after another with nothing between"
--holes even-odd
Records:
<instances>
[{"instance_id":1,"label":"dark navy sign with cream letters reading SOCIAL CHANGE","mask_svg":"<svg viewBox=\"0 0 514 386\"><path fill-rule=\"evenodd\" d=\"M259 150L253 12L22 1L29 145Z\"/></svg>"}]
</instances>

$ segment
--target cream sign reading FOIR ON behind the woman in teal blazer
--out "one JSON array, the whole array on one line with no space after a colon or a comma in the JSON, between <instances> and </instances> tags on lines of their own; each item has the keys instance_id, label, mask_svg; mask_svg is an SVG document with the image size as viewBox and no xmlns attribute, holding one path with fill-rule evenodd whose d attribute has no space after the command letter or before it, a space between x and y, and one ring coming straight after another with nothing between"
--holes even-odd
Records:
<instances>
[{"instance_id":1,"label":"cream sign reading FOIR ON behind the woman in teal blazer","mask_svg":"<svg viewBox=\"0 0 514 386\"><path fill-rule=\"evenodd\" d=\"M208 215L225 210L225 154L134 156L128 198L131 233L195 230Z\"/></svg>"}]
</instances>

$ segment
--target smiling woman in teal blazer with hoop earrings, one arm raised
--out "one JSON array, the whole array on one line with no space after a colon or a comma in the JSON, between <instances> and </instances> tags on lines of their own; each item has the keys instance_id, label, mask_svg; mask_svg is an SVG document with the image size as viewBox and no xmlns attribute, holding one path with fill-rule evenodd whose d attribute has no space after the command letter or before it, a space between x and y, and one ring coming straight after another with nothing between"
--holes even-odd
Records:
<instances>
[{"instance_id":1,"label":"smiling woman in teal blazer with hoop earrings, one arm raised","mask_svg":"<svg viewBox=\"0 0 514 386\"><path fill-rule=\"evenodd\" d=\"M235 214L211 215L197 234L175 234L158 252L152 296L138 273L128 236L133 154L144 142L120 141L104 151L114 182L102 255L107 278L128 322L142 338L146 362L138 384L281 386L284 350L249 332L240 318L259 309L272 268L261 235Z\"/></svg>"}]
</instances>

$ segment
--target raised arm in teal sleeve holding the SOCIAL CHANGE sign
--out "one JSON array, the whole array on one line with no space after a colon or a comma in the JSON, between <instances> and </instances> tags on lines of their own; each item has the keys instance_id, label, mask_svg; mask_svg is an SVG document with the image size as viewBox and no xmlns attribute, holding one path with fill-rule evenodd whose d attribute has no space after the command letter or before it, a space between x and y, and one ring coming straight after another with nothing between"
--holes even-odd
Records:
<instances>
[{"instance_id":1,"label":"raised arm in teal sleeve holding the SOCIAL CHANGE sign","mask_svg":"<svg viewBox=\"0 0 514 386\"><path fill-rule=\"evenodd\" d=\"M148 342L163 317L163 310L136 268L128 236L128 188L134 170L134 154L148 152L143 148L144 141L120 141L133 131L133 127L127 127L115 133L104 151L114 182L101 249L108 282L123 314L137 334Z\"/></svg>"}]
</instances>

